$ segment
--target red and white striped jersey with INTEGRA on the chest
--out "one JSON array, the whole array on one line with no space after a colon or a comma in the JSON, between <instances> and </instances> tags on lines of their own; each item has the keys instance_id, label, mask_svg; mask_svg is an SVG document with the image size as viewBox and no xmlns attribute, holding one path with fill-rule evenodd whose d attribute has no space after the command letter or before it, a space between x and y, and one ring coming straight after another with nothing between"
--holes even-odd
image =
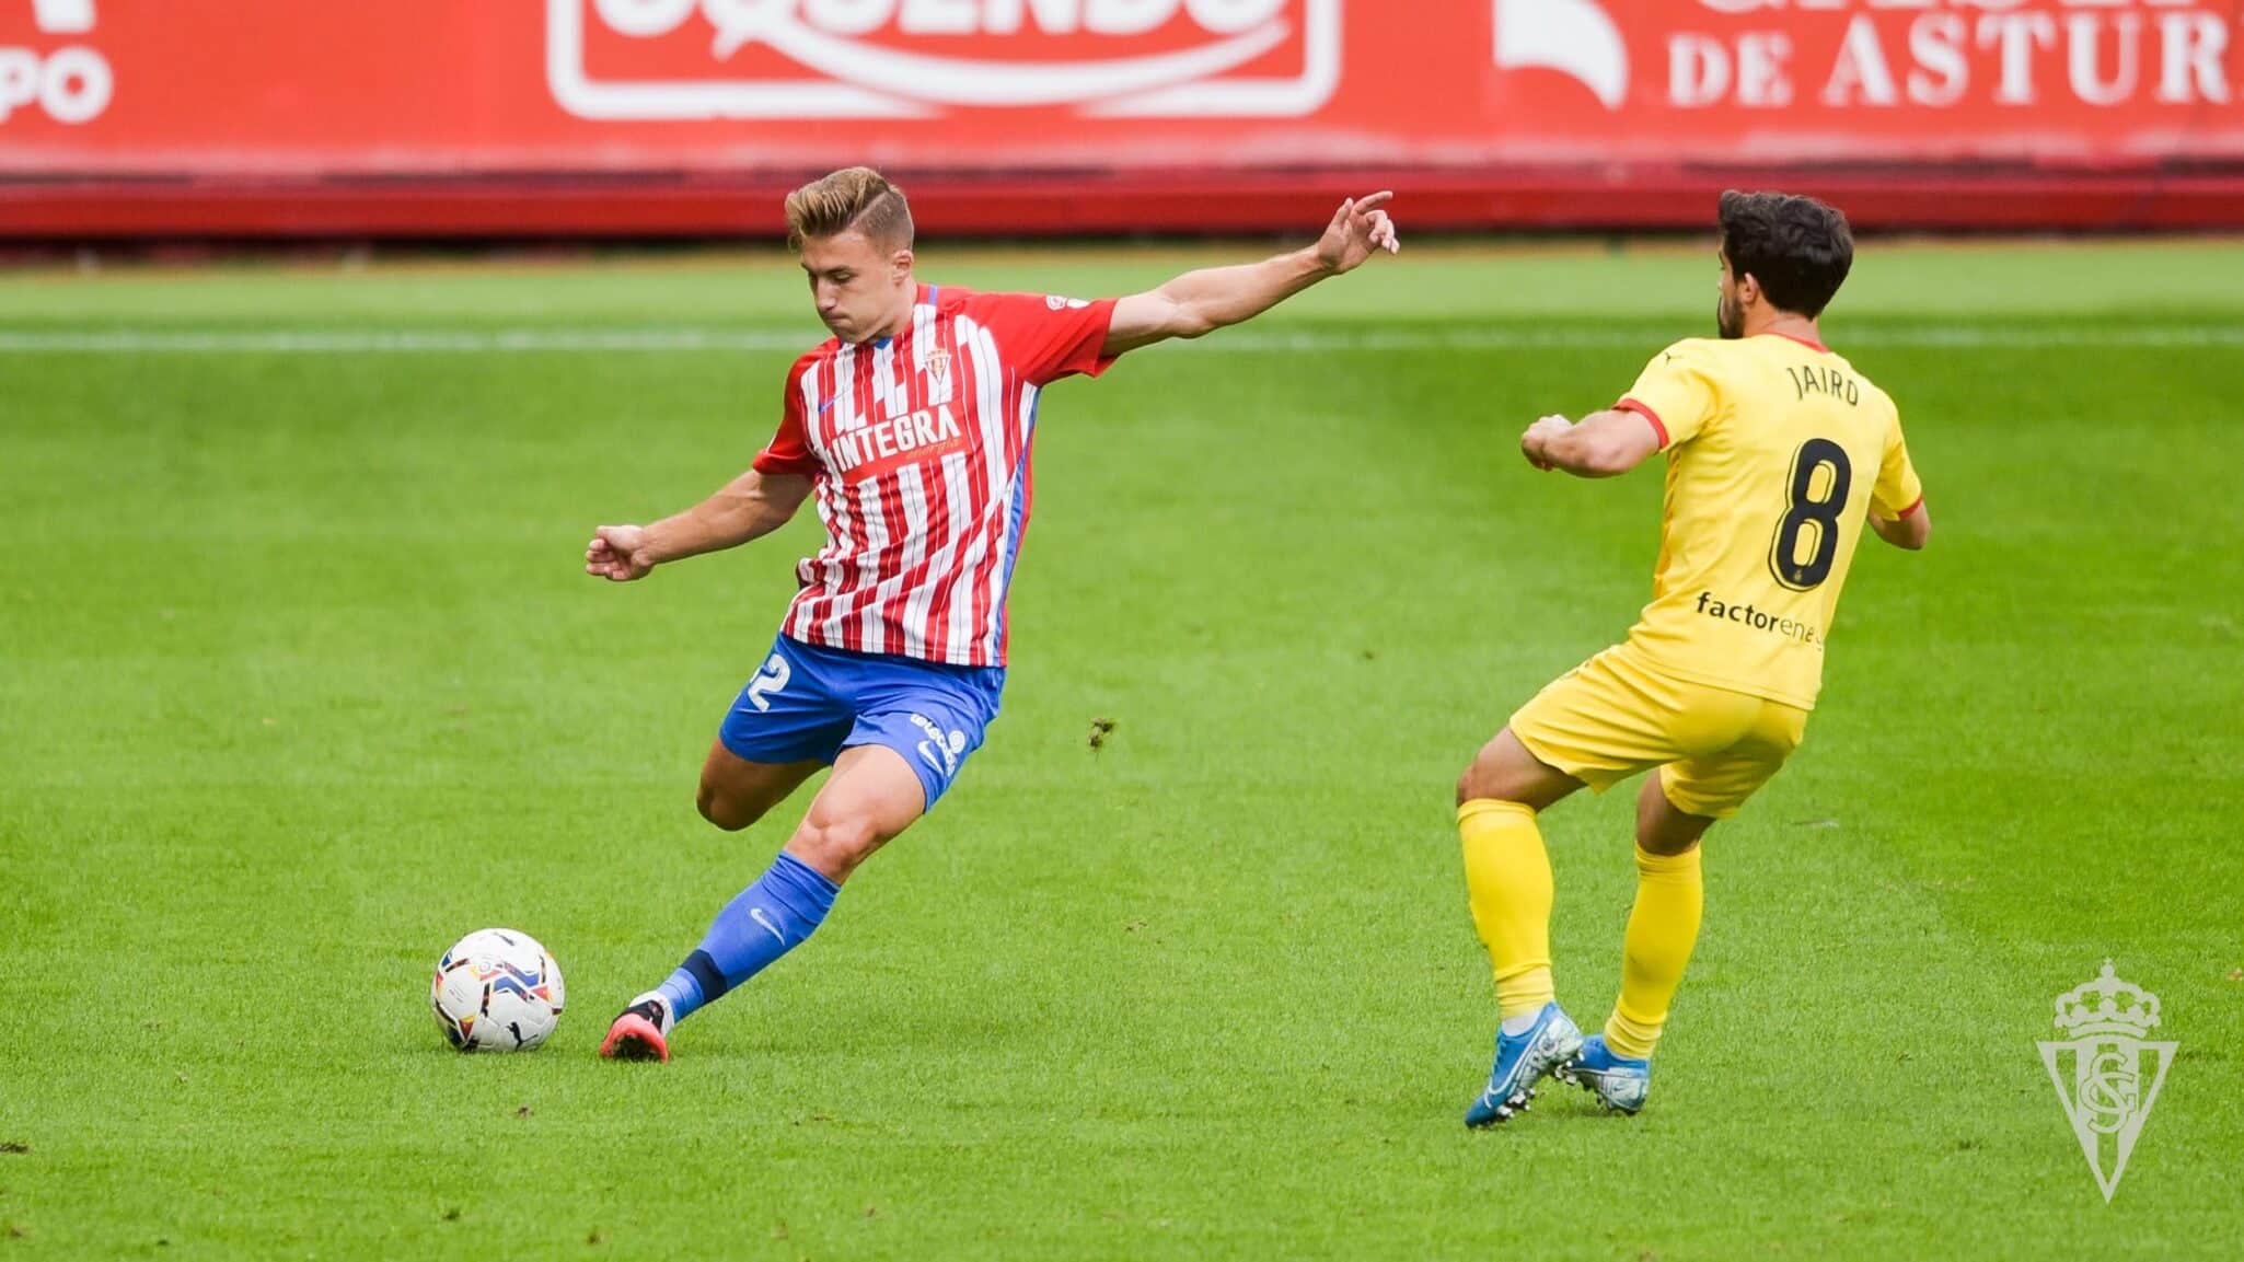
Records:
<instances>
[{"instance_id":1,"label":"red and white striped jersey with INTEGRA on the chest","mask_svg":"<svg viewBox=\"0 0 2244 1262\"><path fill-rule=\"evenodd\" d=\"M911 328L794 362L763 474L817 478L826 546L797 566L806 644L1005 665L1037 393L1100 375L1113 301L920 285Z\"/></svg>"}]
</instances>

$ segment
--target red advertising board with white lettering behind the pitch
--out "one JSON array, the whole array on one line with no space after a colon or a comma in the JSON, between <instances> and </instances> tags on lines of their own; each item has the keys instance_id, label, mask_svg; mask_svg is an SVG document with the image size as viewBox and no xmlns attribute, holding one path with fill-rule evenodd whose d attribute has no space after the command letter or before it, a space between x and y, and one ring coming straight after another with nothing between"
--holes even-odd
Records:
<instances>
[{"instance_id":1,"label":"red advertising board with white lettering behind the pitch","mask_svg":"<svg viewBox=\"0 0 2244 1262\"><path fill-rule=\"evenodd\" d=\"M0 234L2244 225L2244 0L0 0Z\"/></svg>"}]
</instances>

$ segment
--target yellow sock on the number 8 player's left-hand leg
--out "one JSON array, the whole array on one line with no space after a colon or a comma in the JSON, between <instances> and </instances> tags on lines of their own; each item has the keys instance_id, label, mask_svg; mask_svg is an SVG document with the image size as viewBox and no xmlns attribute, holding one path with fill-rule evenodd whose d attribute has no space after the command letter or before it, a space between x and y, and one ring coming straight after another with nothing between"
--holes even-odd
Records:
<instances>
[{"instance_id":1,"label":"yellow sock on the number 8 player's left-hand leg","mask_svg":"<svg viewBox=\"0 0 2244 1262\"><path fill-rule=\"evenodd\" d=\"M1506 1017L1533 1013L1553 999L1551 856L1535 811L1477 797L1456 808L1456 833L1465 842L1472 923L1497 970L1497 1004Z\"/></svg>"}]
</instances>

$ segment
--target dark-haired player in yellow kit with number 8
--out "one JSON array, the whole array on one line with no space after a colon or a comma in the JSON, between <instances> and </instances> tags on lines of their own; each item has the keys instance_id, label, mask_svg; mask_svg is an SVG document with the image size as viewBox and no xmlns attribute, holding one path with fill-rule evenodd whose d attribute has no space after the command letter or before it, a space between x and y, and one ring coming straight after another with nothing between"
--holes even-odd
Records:
<instances>
[{"instance_id":1,"label":"dark-haired player in yellow kit with number 8","mask_svg":"<svg viewBox=\"0 0 2244 1262\"><path fill-rule=\"evenodd\" d=\"M1721 339L1663 350L1609 411L1546 415L1537 469L1627 474L1667 454L1652 604L1629 638L1512 714L1456 784L1472 921L1501 1026L1486 1127L1544 1076L1634 1114L1699 939L1699 838L1784 766L1822 685L1824 638L1867 521L1896 548L1932 532L1894 400L1818 335L1847 281L1847 218L1809 198L1723 193ZM1582 788L1658 770L1636 797L1636 907L1620 1002L1582 1031L1551 981L1551 858L1535 815Z\"/></svg>"}]
</instances>

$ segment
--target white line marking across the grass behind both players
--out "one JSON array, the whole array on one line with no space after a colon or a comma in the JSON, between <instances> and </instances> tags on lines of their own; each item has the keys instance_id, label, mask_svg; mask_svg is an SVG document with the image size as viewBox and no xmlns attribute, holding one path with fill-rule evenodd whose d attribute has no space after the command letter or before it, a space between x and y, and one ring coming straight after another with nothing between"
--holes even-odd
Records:
<instances>
[{"instance_id":1,"label":"white line marking across the grass behind both players","mask_svg":"<svg viewBox=\"0 0 2244 1262\"><path fill-rule=\"evenodd\" d=\"M1685 328L1394 328L1227 330L1192 341L1192 353L1382 353L1382 350L1656 350ZM494 328L494 330L0 330L0 355L572 355L806 350L812 332L776 328ZM1854 346L1955 350L2226 348L2244 346L2244 323L2118 328L1869 326L1838 335Z\"/></svg>"}]
</instances>

